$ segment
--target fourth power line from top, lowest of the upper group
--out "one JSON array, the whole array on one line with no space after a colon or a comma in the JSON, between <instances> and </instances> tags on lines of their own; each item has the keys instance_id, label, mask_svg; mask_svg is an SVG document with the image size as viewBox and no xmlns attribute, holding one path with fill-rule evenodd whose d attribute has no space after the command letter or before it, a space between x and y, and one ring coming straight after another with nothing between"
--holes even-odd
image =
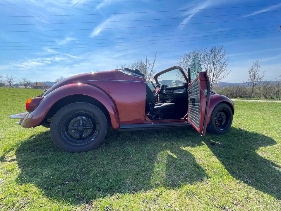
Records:
<instances>
[{"instance_id":1,"label":"fourth power line from top, lowest of the upper group","mask_svg":"<svg viewBox=\"0 0 281 211\"><path fill-rule=\"evenodd\" d=\"M268 18L280 18L281 16L268 17ZM128 27L114 27L114 28L94 28L94 29L54 29L54 30L34 30L34 31L0 31L1 32L41 32L41 31L72 31L72 30L98 30L98 29L120 29L120 28L145 28L145 27L158 27L158 26L175 26L175 25L194 25L194 24L203 24L203 23L225 23L225 22L234 22L234 21L251 21L251 20L260 20L268 18L252 18L252 19L242 19L242 20L232 20L232 21L213 21L213 22L202 22L202 23L184 23L184 24L169 24L169 25L152 25L152 26L128 26Z\"/></svg>"}]
</instances>

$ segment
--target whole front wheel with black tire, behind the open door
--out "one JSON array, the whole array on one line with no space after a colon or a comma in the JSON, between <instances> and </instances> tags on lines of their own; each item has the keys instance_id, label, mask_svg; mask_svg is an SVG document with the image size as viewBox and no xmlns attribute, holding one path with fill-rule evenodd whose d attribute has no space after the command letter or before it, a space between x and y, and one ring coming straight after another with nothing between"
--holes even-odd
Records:
<instances>
[{"instance_id":1,"label":"whole front wheel with black tire, behind the open door","mask_svg":"<svg viewBox=\"0 0 281 211\"><path fill-rule=\"evenodd\" d=\"M207 131L214 134L225 134L232 124L233 113L226 103L218 103L213 109Z\"/></svg>"}]
</instances>

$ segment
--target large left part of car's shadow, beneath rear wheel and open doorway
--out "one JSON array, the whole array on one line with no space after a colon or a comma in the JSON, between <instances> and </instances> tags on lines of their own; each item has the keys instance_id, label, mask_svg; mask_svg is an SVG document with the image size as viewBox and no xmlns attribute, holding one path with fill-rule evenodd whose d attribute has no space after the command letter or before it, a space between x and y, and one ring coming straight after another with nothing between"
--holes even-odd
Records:
<instances>
[{"instance_id":1,"label":"large left part of car's shadow, beneath rear wheel and open doorway","mask_svg":"<svg viewBox=\"0 0 281 211\"><path fill-rule=\"evenodd\" d=\"M76 205L108 194L134 194L158 186L174 189L208 177L183 149L202 145L190 129L109 130L96 149L68 153L54 145L47 131L31 136L16 150L21 169L16 181L33 183L48 198Z\"/></svg>"}]
</instances>

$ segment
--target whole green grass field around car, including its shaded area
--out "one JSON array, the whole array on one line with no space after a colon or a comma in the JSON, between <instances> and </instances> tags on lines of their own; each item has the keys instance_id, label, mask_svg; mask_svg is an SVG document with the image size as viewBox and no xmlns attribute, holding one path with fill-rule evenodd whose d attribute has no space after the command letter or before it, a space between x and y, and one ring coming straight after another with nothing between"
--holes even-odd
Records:
<instances>
[{"instance_id":1,"label":"whole green grass field around car, including its shaded area","mask_svg":"<svg viewBox=\"0 0 281 211\"><path fill-rule=\"evenodd\" d=\"M0 210L280 210L281 105L235 102L225 135L109 130L67 153L8 115L40 90L0 88Z\"/></svg>"}]
</instances>

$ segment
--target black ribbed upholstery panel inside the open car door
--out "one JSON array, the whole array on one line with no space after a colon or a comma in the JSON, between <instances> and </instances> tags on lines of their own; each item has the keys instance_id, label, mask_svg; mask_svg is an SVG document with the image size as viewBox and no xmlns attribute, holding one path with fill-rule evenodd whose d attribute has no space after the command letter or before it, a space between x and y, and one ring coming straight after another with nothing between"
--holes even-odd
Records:
<instances>
[{"instance_id":1,"label":"black ribbed upholstery panel inside the open car door","mask_svg":"<svg viewBox=\"0 0 281 211\"><path fill-rule=\"evenodd\" d=\"M200 82L199 79L189 86L189 95L188 101L189 112L188 117L190 121L199 129L200 127L200 106L201 106L201 97L200 97ZM193 99L194 100L191 100Z\"/></svg>"}]
</instances>

